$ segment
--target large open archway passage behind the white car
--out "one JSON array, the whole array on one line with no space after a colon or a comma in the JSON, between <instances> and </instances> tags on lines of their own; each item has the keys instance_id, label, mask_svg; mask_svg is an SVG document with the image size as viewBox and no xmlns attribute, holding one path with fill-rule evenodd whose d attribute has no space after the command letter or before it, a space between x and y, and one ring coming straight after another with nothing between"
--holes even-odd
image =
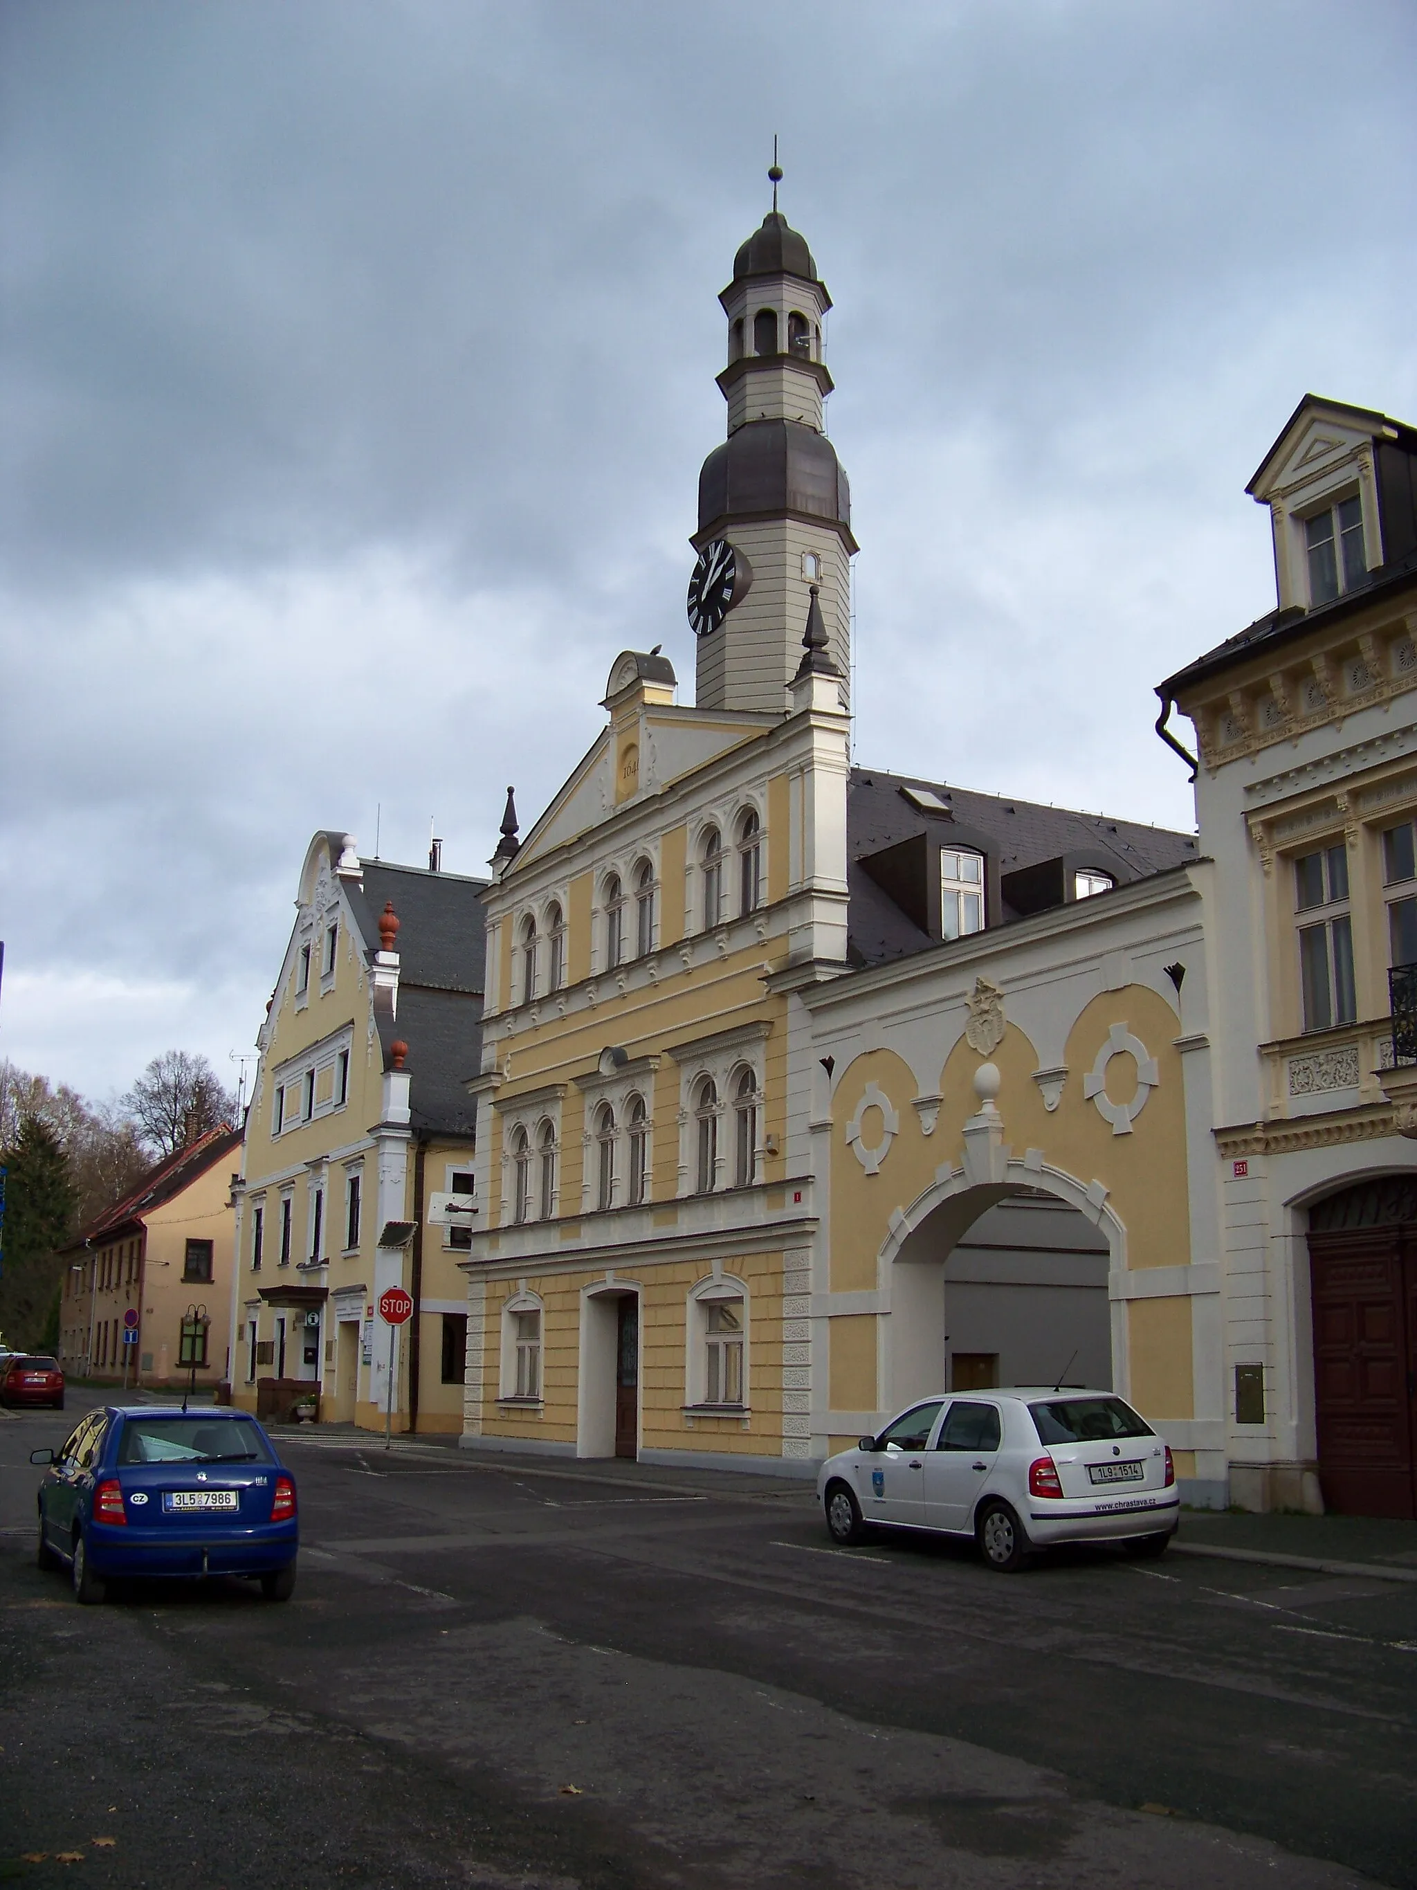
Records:
<instances>
[{"instance_id":1,"label":"large open archway passage behind the white car","mask_svg":"<svg viewBox=\"0 0 1417 1890\"><path fill-rule=\"evenodd\" d=\"M886 1404L990 1385L1113 1389L1117 1259L1100 1211L1022 1176L931 1193L943 1198L918 1202L882 1255Z\"/></svg>"}]
</instances>

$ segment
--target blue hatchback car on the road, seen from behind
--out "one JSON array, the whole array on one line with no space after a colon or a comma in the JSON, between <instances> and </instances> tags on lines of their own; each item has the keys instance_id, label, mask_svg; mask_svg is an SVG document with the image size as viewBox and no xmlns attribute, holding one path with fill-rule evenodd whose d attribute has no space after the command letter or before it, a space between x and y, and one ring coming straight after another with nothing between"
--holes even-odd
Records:
<instances>
[{"instance_id":1,"label":"blue hatchback car on the road, seen from behind","mask_svg":"<svg viewBox=\"0 0 1417 1890\"><path fill-rule=\"evenodd\" d=\"M79 1601L119 1576L204 1574L255 1576L268 1601L289 1601L295 1478L246 1412L110 1404L30 1463L47 1467L40 1567L66 1563Z\"/></svg>"}]
</instances>

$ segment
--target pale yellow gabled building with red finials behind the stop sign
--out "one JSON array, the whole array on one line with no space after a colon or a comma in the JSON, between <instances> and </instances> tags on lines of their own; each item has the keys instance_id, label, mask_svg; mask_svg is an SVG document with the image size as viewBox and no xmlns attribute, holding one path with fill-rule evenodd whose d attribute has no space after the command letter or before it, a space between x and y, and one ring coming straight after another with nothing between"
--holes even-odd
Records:
<instances>
[{"instance_id":1,"label":"pale yellow gabled building with red finials behind the stop sign","mask_svg":"<svg viewBox=\"0 0 1417 1890\"><path fill-rule=\"evenodd\" d=\"M440 871L436 845L427 869L361 860L348 833L306 850L234 1191L248 1410L461 1427L469 1234L435 1196L470 1193L484 885ZM378 1314L395 1285L416 1306L397 1336Z\"/></svg>"}]
</instances>

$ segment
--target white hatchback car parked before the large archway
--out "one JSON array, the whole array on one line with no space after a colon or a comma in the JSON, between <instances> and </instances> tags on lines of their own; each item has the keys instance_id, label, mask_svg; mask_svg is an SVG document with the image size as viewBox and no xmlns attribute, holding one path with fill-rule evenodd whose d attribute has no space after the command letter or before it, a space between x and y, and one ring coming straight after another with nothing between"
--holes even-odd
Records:
<instances>
[{"instance_id":1,"label":"white hatchback car parked before the large archway","mask_svg":"<svg viewBox=\"0 0 1417 1890\"><path fill-rule=\"evenodd\" d=\"M833 1540L869 1529L973 1537L1013 1572L1062 1542L1162 1555L1181 1514L1171 1450L1111 1391L962 1391L920 1399L828 1457L816 1495Z\"/></svg>"}]
</instances>

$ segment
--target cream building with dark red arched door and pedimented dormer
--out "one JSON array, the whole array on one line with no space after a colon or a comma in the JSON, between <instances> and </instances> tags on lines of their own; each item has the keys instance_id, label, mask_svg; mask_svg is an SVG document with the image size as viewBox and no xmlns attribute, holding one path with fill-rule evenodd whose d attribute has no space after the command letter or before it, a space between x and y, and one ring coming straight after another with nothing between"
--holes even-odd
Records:
<instances>
[{"instance_id":1,"label":"cream building with dark red arched door and pedimented dormer","mask_svg":"<svg viewBox=\"0 0 1417 1890\"><path fill-rule=\"evenodd\" d=\"M1417 1514L1417 431L1307 395L1249 486L1277 607L1160 686L1207 894L1230 1495ZM1190 756L1187 756L1190 760ZM1409 1000L1408 1000L1409 1002Z\"/></svg>"}]
</instances>

